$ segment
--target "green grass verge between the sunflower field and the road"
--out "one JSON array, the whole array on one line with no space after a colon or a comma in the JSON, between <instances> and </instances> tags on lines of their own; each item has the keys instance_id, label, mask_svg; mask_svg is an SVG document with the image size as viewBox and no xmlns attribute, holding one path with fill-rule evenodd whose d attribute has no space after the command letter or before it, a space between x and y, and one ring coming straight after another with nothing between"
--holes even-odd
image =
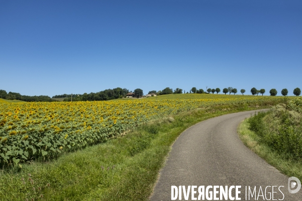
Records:
<instances>
[{"instance_id":1,"label":"green grass verge between the sunflower field and the road","mask_svg":"<svg viewBox=\"0 0 302 201\"><path fill-rule=\"evenodd\" d=\"M275 104L219 106L181 113L51 162L0 170L1 200L147 200L171 145L185 129L209 118Z\"/></svg>"}]
</instances>

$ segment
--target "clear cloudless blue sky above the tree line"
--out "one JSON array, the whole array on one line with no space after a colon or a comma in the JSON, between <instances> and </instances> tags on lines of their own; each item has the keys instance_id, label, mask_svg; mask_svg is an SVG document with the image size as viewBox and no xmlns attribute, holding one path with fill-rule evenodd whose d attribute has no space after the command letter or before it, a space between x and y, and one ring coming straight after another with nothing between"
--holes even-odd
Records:
<instances>
[{"instance_id":1,"label":"clear cloudless blue sky above the tree line","mask_svg":"<svg viewBox=\"0 0 302 201\"><path fill-rule=\"evenodd\" d=\"M0 89L302 88L302 1L0 0Z\"/></svg>"}]
</instances>

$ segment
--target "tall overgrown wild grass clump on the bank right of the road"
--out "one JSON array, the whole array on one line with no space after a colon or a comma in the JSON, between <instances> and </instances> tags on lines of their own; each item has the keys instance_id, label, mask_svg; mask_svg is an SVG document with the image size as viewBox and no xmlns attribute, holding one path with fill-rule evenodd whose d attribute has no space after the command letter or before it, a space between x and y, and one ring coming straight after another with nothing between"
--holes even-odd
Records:
<instances>
[{"instance_id":1,"label":"tall overgrown wild grass clump on the bank right of the road","mask_svg":"<svg viewBox=\"0 0 302 201\"><path fill-rule=\"evenodd\" d=\"M274 106L267 113L258 113L248 121L262 143L285 157L302 160L302 98Z\"/></svg>"}]
</instances>

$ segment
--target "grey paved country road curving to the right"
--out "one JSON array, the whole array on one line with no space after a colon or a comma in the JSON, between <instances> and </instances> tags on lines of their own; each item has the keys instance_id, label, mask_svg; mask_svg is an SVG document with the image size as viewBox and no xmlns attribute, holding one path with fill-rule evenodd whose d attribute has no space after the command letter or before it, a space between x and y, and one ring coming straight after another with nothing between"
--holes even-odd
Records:
<instances>
[{"instance_id":1,"label":"grey paved country road curving to the right","mask_svg":"<svg viewBox=\"0 0 302 201\"><path fill-rule=\"evenodd\" d=\"M248 149L239 139L238 125L254 113L255 111L248 111L223 115L200 122L184 131L172 146L150 200L171 200L172 185L184 185L186 190L189 185L196 185L197 188L202 185L227 185L229 188L241 185L241 200L246 200L246 194L247 200L255 200L255 195L251 198L250 194L250 199L248 198L246 186L250 186L252 191L256 186L255 194L260 194L258 200L269 200L272 186L277 186L273 190L274 200L302 200L302 189L295 194L289 193L288 177ZM261 196L260 186L264 196ZM194 189L197 191L196 198L199 194L197 188ZM235 190L231 192L235 196ZM191 200L191 195L190 191L188 200ZM176 200L180 200L179 196ZM186 200L183 193L181 200Z\"/></svg>"}]
</instances>

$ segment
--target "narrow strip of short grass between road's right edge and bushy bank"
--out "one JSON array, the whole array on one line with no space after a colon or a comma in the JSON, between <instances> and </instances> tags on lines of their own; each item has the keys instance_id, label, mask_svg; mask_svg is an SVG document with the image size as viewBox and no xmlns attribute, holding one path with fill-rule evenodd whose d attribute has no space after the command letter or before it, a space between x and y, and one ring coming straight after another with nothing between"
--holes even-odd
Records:
<instances>
[{"instance_id":1,"label":"narrow strip of short grass between road's right edge and bushy bank","mask_svg":"<svg viewBox=\"0 0 302 201\"><path fill-rule=\"evenodd\" d=\"M274 166L287 176L295 176L300 180L302 179L302 161L286 159L288 157L285 155L278 154L268 145L261 143L260 138L255 132L249 130L248 119L239 125L238 134L248 148L266 160L270 165Z\"/></svg>"}]
</instances>

